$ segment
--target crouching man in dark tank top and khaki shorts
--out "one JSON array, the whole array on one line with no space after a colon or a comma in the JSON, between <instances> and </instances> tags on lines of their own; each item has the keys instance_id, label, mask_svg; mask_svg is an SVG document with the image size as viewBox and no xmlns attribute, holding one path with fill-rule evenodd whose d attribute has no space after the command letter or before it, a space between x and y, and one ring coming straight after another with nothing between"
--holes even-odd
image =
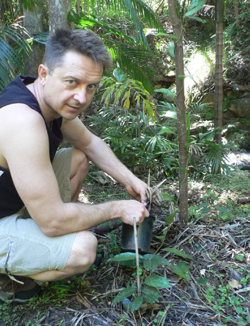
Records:
<instances>
[{"instance_id":1,"label":"crouching man in dark tank top and khaki shorts","mask_svg":"<svg viewBox=\"0 0 250 326\"><path fill-rule=\"evenodd\" d=\"M8 276L16 287L9 293L1 281L2 300L25 302L37 281L86 271L97 246L88 228L148 216L146 184L77 117L109 64L94 33L58 30L47 41L38 78L18 76L0 95L0 279ZM57 151L62 138L72 147ZM136 200L75 203L88 160Z\"/></svg>"}]
</instances>

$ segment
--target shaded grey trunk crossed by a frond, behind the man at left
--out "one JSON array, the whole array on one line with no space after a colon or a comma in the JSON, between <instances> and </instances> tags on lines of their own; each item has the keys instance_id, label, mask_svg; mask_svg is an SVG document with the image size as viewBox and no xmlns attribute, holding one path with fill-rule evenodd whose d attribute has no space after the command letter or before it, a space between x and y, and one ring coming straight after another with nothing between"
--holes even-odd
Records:
<instances>
[{"instance_id":1,"label":"shaded grey trunk crossed by a frond, behind the man at left","mask_svg":"<svg viewBox=\"0 0 250 326\"><path fill-rule=\"evenodd\" d=\"M30 12L23 9L24 27L30 36L42 32L42 9L35 6ZM24 57L24 75L37 77L37 68L42 62L44 47L42 44L33 42L29 57Z\"/></svg>"}]
</instances>

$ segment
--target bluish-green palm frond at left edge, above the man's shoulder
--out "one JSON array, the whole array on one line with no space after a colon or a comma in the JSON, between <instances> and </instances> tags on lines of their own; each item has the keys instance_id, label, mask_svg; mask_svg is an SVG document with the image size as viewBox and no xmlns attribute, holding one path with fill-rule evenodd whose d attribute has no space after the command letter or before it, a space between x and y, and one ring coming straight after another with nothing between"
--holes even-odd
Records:
<instances>
[{"instance_id":1,"label":"bluish-green palm frond at left edge, above the man's shoulder","mask_svg":"<svg viewBox=\"0 0 250 326\"><path fill-rule=\"evenodd\" d=\"M0 29L0 90L23 70L23 54L30 49L23 35L27 35L19 21Z\"/></svg>"}]
</instances>

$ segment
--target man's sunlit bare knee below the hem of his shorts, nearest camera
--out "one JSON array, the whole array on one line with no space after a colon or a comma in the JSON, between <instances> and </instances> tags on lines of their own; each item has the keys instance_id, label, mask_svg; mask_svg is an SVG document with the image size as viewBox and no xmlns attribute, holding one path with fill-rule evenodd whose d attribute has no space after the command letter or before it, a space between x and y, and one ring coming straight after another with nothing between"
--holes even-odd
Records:
<instances>
[{"instance_id":1,"label":"man's sunlit bare knee below the hem of his shorts, nearest camera","mask_svg":"<svg viewBox=\"0 0 250 326\"><path fill-rule=\"evenodd\" d=\"M94 262L96 248L97 239L91 232L77 232L65 269L73 269L75 274L86 271Z\"/></svg>"}]
</instances>

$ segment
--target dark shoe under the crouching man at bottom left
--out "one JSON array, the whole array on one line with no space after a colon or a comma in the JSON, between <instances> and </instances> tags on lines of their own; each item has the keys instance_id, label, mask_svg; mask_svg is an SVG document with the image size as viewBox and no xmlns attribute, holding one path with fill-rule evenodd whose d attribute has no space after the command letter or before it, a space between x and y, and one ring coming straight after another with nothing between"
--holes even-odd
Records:
<instances>
[{"instance_id":1,"label":"dark shoe under the crouching man at bottom left","mask_svg":"<svg viewBox=\"0 0 250 326\"><path fill-rule=\"evenodd\" d=\"M5 278L5 282L4 282ZM39 292L40 286L27 277L18 277L23 284L11 280L7 275L0 277L0 300L5 303L10 302L27 302L36 293Z\"/></svg>"}]
</instances>

